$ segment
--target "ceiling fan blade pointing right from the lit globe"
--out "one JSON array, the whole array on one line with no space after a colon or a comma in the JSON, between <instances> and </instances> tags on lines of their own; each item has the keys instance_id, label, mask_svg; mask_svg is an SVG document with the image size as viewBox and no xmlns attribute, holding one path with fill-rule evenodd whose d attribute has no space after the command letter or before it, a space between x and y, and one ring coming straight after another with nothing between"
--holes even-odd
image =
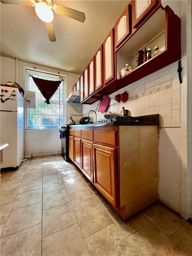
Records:
<instances>
[{"instance_id":1,"label":"ceiling fan blade pointing right from the lit globe","mask_svg":"<svg viewBox=\"0 0 192 256\"><path fill-rule=\"evenodd\" d=\"M78 20L80 22L84 22L85 21L85 14L83 12L80 11L76 11L74 9L71 9L69 7L66 6L62 6L59 4L54 4L53 5L55 12L67 16L69 18L72 18L74 20Z\"/></svg>"}]
</instances>

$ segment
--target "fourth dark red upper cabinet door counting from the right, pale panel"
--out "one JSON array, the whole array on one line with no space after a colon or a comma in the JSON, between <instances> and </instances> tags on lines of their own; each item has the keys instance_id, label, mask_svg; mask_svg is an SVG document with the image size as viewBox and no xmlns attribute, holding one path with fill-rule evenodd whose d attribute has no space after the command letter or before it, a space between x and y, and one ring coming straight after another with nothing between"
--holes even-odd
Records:
<instances>
[{"instance_id":1,"label":"fourth dark red upper cabinet door counting from the right, pale panel","mask_svg":"<svg viewBox=\"0 0 192 256\"><path fill-rule=\"evenodd\" d=\"M103 87L103 45L95 54L95 90Z\"/></svg>"}]
</instances>

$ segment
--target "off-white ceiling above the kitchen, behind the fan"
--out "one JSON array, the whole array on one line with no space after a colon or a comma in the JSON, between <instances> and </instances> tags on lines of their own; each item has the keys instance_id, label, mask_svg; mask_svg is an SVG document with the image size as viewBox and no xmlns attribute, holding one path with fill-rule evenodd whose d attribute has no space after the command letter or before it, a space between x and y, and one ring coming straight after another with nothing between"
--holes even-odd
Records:
<instances>
[{"instance_id":1,"label":"off-white ceiling above the kitchen, behind the fan","mask_svg":"<svg viewBox=\"0 0 192 256\"><path fill-rule=\"evenodd\" d=\"M56 42L34 7L2 4L1 55L81 74L130 1L62 1L85 13L84 23L54 13Z\"/></svg>"}]
</instances>

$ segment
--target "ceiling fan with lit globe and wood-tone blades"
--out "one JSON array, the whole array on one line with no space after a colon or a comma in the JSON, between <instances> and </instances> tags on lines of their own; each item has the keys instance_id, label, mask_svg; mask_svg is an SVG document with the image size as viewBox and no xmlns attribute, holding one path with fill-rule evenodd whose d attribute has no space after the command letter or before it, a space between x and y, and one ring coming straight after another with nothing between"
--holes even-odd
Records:
<instances>
[{"instance_id":1,"label":"ceiling fan with lit globe and wood-tone blades","mask_svg":"<svg viewBox=\"0 0 192 256\"><path fill-rule=\"evenodd\" d=\"M55 31L52 23L54 17L52 10L74 20L80 22L85 21L85 14L83 12L59 4L53 5L52 0L0 0L0 2L3 4L21 4L35 7L37 16L46 23L49 40L51 42L56 41Z\"/></svg>"}]
</instances>

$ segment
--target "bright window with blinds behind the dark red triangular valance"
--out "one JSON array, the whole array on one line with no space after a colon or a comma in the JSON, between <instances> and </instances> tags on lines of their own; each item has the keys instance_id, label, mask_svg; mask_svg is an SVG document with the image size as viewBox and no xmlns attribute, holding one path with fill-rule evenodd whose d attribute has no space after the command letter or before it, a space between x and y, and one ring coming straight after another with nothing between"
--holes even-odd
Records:
<instances>
[{"instance_id":1,"label":"bright window with blinds behind the dark red triangular valance","mask_svg":"<svg viewBox=\"0 0 192 256\"><path fill-rule=\"evenodd\" d=\"M45 98L37 88L31 75L45 80L62 80L57 91L50 99L51 104L44 103ZM36 93L36 108L29 107L31 104L26 102L26 129L58 129L66 122L65 76L26 69L26 99L27 91Z\"/></svg>"}]
</instances>

